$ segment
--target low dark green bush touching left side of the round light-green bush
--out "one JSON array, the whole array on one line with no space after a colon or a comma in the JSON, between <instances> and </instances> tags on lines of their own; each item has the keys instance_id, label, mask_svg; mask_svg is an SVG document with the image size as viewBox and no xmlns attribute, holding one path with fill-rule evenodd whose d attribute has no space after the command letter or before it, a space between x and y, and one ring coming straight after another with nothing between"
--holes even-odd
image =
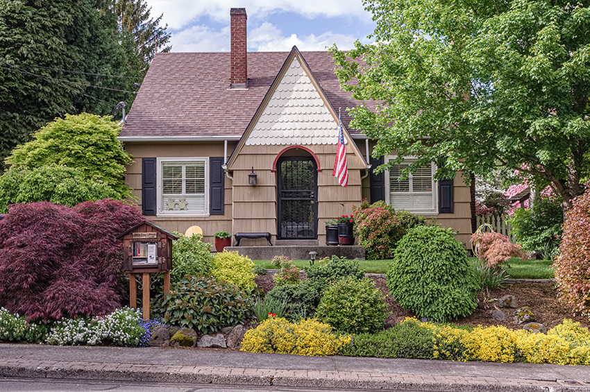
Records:
<instances>
[{"instance_id":1,"label":"low dark green bush touching left side of the round light-green bush","mask_svg":"<svg viewBox=\"0 0 590 392\"><path fill-rule=\"evenodd\" d=\"M276 286L267 293L264 300L285 302L284 317L288 320L307 318L319 304L319 293L310 280Z\"/></svg>"}]
</instances>

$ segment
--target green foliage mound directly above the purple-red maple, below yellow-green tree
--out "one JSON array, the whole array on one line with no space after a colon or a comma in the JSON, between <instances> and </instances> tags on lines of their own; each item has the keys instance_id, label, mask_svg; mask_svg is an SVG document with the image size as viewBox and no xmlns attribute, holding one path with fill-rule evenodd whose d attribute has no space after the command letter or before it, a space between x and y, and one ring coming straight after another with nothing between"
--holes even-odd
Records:
<instances>
[{"instance_id":1,"label":"green foliage mound directly above the purple-red maple, below yellow-green tree","mask_svg":"<svg viewBox=\"0 0 590 392\"><path fill-rule=\"evenodd\" d=\"M83 201L124 198L102 181L90 180L81 169L46 166L36 169L12 169L0 176L0 214L8 212L8 203L50 201L70 207Z\"/></svg>"}]
</instances>

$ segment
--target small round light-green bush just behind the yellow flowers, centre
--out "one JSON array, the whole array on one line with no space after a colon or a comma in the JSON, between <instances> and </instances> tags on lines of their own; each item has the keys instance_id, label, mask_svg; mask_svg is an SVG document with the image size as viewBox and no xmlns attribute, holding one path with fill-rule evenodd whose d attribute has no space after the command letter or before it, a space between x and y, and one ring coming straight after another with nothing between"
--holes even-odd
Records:
<instances>
[{"instance_id":1,"label":"small round light-green bush just behind the yellow flowers, centre","mask_svg":"<svg viewBox=\"0 0 590 392\"><path fill-rule=\"evenodd\" d=\"M328 287L319 301L316 317L350 334L376 332L383 329L387 305L373 280L351 276Z\"/></svg>"}]
</instances>

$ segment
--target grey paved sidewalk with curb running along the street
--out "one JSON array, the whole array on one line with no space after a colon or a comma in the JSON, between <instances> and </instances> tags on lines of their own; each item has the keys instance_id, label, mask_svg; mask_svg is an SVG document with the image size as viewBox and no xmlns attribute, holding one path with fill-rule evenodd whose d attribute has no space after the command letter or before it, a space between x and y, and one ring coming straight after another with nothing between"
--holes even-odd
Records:
<instances>
[{"instance_id":1,"label":"grey paved sidewalk with curb running along the street","mask_svg":"<svg viewBox=\"0 0 590 392\"><path fill-rule=\"evenodd\" d=\"M590 392L590 366L0 343L0 376L407 391Z\"/></svg>"}]
</instances>

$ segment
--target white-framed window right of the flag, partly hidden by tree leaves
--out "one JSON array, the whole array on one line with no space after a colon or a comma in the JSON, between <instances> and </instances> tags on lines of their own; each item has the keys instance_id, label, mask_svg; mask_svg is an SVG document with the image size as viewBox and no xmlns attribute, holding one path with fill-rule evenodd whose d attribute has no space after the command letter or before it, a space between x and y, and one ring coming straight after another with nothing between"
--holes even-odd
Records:
<instances>
[{"instance_id":1,"label":"white-framed window right of the flag, partly hidden by tree leaves","mask_svg":"<svg viewBox=\"0 0 590 392\"><path fill-rule=\"evenodd\" d=\"M395 157L387 157L387 161ZM437 183L435 181L436 164L419 167L405 180L400 180L401 171L415 161L407 158L386 172L387 203L395 210L407 210L414 214L437 214Z\"/></svg>"}]
</instances>

